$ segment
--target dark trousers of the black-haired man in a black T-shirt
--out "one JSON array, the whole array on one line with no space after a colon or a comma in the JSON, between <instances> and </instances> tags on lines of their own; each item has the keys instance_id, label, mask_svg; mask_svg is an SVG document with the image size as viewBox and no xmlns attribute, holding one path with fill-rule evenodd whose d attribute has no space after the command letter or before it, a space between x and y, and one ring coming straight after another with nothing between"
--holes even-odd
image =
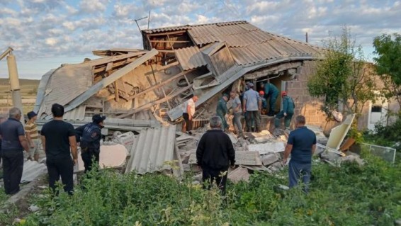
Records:
<instances>
[{"instance_id":1,"label":"dark trousers of the black-haired man in a black T-shirt","mask_svg":"<svg viewBox=\"0 0 401 226\"><path fill-rule=\"evenodd\" d=\"M64 191L72 195L74 192L74 162L71 157L46 159L47 171L49 173L49 186L55 192L56 181L59 181L60 176L64 184Z\"/></svg>"}]
</instances>

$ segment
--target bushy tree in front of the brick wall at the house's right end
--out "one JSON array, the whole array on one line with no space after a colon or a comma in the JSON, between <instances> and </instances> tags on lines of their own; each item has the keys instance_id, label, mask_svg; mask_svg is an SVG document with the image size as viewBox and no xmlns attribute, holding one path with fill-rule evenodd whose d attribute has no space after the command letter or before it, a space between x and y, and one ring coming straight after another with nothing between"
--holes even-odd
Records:
<instances>
[{"instance_id":1,"label":"bushy tree in front of the brick wall at the house's right end","mask_svg":"<svg viewBox=\"0 0 401 226\"><path fill-rule=\"evenodd\" d=\"M307 89L311 96L325 97L322 111L328 118L332 112L356 113L356 120L368 101L375 101L375 80L371 64L367 64L361 45L351 38L344 26L339 37L330 36L323 41L324 59L317 62L317 72L308 78Z\"/></svg>"}]
</instances>

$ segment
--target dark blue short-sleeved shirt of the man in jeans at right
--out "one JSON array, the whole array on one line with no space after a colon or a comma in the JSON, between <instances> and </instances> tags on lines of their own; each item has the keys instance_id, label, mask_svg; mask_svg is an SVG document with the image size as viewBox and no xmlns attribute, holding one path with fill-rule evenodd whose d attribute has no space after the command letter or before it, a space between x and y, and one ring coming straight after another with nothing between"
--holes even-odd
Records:
<instances>
[{"instance_id":1,"label":"dark blue short-sleeved shirt of the man in jeans at right","mask_svg":"<svg viewBox=\"0 0 401 226\"><path fill-rule=\"evenodd\" d=\"M290 132L288 144L293 145L291 161L310 163L312 160L312 146L316 144L315 132L301 126Z\"/></svg>"}]
</instances>

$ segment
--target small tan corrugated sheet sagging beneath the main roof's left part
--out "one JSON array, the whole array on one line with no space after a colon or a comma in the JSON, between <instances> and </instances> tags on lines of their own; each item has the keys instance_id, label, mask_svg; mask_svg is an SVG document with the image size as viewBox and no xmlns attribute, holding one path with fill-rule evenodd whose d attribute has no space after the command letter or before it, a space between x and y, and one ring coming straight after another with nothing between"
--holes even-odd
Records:
<instances>
[{"instance_id":1,"label":"small tan corrugated sheet sagging beneath the main roof's left part","mask_svg":"<svg viewBox=\"0 0 401 226\"><path fill-rule=\"evenodd\" d=\"M203 58L202 52L200 52L199 48L196 46L186 47L174 51L176 52L177 60L180 62L180 65L184 71L202 67L207 64Z\"/></svg>"}]
</instances>

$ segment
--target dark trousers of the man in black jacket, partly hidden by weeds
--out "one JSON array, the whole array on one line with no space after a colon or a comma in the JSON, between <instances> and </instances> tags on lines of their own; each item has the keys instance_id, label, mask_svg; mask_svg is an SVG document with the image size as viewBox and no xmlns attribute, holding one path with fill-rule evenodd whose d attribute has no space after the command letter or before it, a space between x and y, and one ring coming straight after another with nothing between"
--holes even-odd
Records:
<instances>
[{"instance_id":1,"label":"dark trousers of the man in black jacket, partly hidden by weeds","mask_svg":"<svg viewBox=\"0 0 401 226\"><path fill-rule=\"evenodd\" d=\"M202 181L203 188L210 189L215 182L221 191L222 196L225 196L225 184L227 183L228 168L226 169L207 169L203 168ZM206 187L207 186L207 187Z\"/></svg>"}]
</instances>

